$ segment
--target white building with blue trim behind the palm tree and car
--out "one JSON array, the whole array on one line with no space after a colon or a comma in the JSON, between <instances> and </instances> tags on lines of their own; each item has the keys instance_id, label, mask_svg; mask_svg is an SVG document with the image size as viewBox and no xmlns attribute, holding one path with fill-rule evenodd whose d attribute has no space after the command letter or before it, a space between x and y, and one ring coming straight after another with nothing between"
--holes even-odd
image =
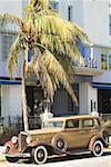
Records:
<instances>
[{"instance_id":1,"label":"white building with blue trim behind the palm tree and car","mask_svg":"<svg viewBox=\"0 0 111 167\"><path fill-rule=\"evenodd\" d=\"M8 7L9 1L10 6ZM0 13L11 12L22 18L28 0L1 0ZM111 89L110 0L50 0L50 4L59 10L64 19L74 21L82 27L92 43L91 49L84 48L84 46L80 47L87 62L85 67L78 66L74 71L73 89L79 99L79 107L72 105L68 94L61 88L56 94L52 111L56 116L74 114L74 111L75 114L102 112L107 100L111 99L110 95L103 96ZM4 48L6 47L3 43L10 46L10 41L13 40L11 35L9 31L9 36L6 37L4 32L0 32L0 114L2 117L22 115L21 63L14 81L9 79L7 70L6 52L8 51ZM32 95L32 98L28 100L31 107L34 102L36 85L28 85L27 90ZM105 112L109 112L109 105L107 108Z\"/></svg>"}]
</instances>

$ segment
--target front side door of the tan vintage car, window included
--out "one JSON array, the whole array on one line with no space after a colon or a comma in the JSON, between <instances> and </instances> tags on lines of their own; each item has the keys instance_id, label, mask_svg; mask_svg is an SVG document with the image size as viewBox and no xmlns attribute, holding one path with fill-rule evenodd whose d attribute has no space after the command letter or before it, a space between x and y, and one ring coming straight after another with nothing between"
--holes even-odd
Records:
<instances>
[{"instance_id":1,"label":"front side door of the tan vintage car, window included","mask_svg":"<svg viewBox=\"0 0 111 167\"><path fill-rule=\"evenodd\" d=\"M63 136L67 140L68 148L80 147L79 119L69 119L65 121Z\"/></svg>"}]
</instances>

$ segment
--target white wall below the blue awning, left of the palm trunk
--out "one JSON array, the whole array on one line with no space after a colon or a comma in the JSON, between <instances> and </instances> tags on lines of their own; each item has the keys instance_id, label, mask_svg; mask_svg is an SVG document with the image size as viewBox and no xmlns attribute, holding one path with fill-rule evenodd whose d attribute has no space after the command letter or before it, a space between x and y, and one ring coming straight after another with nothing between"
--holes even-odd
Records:
<instances>
[{"instance_id":1,"label":"white wall below the blue awning, left of the palm trunk","mask_svg":"<svg viewBox=\"0 0 111 167\"><path fill-rule=\"evenodd\" d=\"M21 86L1 86L1 116L21 115Z\"/></svg>"}]
</instances>

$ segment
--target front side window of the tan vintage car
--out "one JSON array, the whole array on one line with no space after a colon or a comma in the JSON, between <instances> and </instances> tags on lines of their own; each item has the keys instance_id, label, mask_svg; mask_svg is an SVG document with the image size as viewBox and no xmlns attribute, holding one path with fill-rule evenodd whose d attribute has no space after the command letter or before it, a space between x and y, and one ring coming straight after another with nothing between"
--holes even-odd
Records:
<instances>
[{"instance_id":1,"label":"front side window of the tan vintage car","mask_svg":"<svg viewBox=\"0 0 111 167\"><path fill-rule=\"evenodd\" d=\"M79 120L78 119L67 120L65 128L79 128Z\"/></svg>"}]
</instances>

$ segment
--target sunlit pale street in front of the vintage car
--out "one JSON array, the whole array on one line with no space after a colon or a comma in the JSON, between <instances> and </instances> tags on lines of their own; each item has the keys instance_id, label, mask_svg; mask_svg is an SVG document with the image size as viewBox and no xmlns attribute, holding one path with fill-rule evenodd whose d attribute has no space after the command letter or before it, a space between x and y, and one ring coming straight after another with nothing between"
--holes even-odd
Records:
<instances>
[{"instance_id":1,"label":"sunlit pale street in front of the vintage car","mask_svg":"<svg viewBox=\"0 0 111 167\"><path fill-rule=\"evenodd\" d=\"M19 161L18 164L10 164L7 161L0 163L0 167L36 167L34 164L28 161ZM90 154L75 155L71 157L59 157L49 160L44 165L38 167L111 167L111 151L107 151L102 157L93 157Z\"/></svg>"}]
</instances>

